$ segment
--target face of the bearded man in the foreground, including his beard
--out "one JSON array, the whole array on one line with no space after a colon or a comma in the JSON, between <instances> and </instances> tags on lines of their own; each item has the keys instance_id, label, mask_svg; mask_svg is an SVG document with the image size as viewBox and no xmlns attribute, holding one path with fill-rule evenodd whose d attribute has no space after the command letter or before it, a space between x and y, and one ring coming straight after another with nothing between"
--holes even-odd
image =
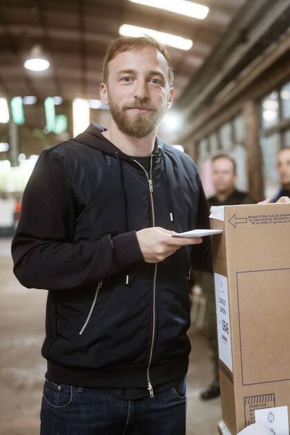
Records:
<instances>
[{"instance_id":1,"label":"face of the bearded man in the foreground, including his beard","mask_svg":"<svg viewBox=\"0 0 290 435\"><path fill-rule=\"evenodd\" d=\"M173 102L166 59L151 47L119 53L108 64L101 98L120 131L133 137L149 135Z\"/></svg>"}]
</instances>

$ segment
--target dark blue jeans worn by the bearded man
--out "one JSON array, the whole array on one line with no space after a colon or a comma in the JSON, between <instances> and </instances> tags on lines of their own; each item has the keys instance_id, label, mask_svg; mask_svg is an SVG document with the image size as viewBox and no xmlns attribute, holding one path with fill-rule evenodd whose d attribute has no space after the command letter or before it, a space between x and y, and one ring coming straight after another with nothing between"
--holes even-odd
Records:
<instances>
[{"instance_id":1,"label":"dark blue jeans worn by the bearded man","mask_svg":"<svg viewBox=\"0 0 290 435\"><path fill-rule=\"evenodd\" d=\"M185 435L186 381L135 400L46 380L41 435Z\"/></svg>"}]
</instances>

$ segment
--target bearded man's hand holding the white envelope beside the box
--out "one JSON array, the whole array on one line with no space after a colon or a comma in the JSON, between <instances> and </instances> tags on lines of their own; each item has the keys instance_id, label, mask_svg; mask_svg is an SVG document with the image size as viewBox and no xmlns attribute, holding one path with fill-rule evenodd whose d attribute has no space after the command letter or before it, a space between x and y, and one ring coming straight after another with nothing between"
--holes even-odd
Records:
<instances>
[{"instance_id":1,"label":"bearded man's hand holding the white envelope beside the box","mask_svg":"<svg viewBox=\"0 0 290 435\"><path fill-rule=\"evenodd\" d=\"M139 247L146 263L165 260L186 244L202 243L202 238L175 238L175 231L168 231L160 226L146 228L136 232Z\"/></svg>"}]
</instances>

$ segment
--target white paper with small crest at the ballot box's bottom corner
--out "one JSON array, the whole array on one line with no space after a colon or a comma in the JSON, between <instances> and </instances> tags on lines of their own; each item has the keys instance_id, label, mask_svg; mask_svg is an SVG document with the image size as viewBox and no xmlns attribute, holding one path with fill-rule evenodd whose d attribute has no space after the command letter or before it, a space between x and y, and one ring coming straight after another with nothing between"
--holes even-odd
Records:
<instances>
[{"instance_id":1,"label":"white paper with small crest at the ballot box's bottom corner","mask_svg":"<svg viewBox=\"0 0 290 435\"><path fill-rule=\"evenodd\" d=\"M255 422L266 425L273 435L289 435L287 406L256 409Z\"/></svg>"}]
</instances>

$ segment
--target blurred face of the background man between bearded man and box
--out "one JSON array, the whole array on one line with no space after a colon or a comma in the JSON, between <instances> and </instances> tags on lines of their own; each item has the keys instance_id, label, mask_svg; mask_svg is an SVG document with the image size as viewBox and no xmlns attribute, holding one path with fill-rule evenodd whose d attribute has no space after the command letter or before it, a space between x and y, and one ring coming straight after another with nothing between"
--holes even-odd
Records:
<instances>
[{"instance_id":1,"label":"blurred face of the background man between bearded man and box","mask_svg":"<svg viewBox=\"0 0 290 435\"><path fill-rule=\"evenodd\" d=\"M225 193L235 189L236 175L233 162L220 157L213 162L213 186L217 193Z\"/></svg>"}]
</instances>

